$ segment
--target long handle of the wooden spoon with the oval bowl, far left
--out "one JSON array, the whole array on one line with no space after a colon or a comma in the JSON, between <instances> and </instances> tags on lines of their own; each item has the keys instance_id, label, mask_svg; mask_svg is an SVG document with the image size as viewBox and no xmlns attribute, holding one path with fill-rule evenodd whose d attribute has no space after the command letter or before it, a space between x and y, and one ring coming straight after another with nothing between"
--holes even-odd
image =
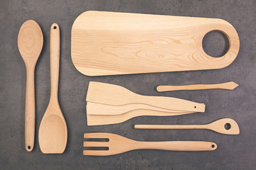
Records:
<instances>
[{"instance_id":1,"label":"long handle of the wooden spoon with the oval bowl, far left","mask_svg":"<svg viewBox=\"0 0 256 170\"><path fill-rule=\"evenodd\" d=\"M35 139L35 67L26 67L25 147L33 150Z\"/></svg>"}]
</instances>

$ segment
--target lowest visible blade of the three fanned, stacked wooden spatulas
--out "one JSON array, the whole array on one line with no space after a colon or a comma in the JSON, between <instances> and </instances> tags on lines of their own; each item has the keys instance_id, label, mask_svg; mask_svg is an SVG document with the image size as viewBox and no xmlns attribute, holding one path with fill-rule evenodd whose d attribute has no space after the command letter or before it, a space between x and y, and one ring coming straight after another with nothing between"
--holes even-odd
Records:
<instances>
[{"instance_id":1,"label":"lowest visible blade of the three fanned, stacked wooden spatulas","mask_svg":"<svg viewBox=\"0 0 256 170\"><path fill-rule=\"evenodd\" d=\"M116 123L122 123L126 120L129 120L134 117L150 115L150 116L173 116L173 115L185 115L189 113L182 111L180 113L170 113L170 112L159 112L159 111L151 111L145 109L138 109L134 111L129 111L127 113L123 113L121 115L91 115L87 113L87 125L111 125Z\"/></svg>"}]
</instances>

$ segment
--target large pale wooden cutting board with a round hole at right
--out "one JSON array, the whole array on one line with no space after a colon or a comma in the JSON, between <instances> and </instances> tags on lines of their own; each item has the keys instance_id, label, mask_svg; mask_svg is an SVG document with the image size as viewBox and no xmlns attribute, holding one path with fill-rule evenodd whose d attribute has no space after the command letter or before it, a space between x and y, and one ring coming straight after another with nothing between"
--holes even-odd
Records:
<instances>
[{"instance_id":1,"label":"large pale wooden cutting board with a round hole at right","mask_svg":"<svg viewBox=\"0 0 256 170\"><path fill-rule=\"evenodd\" d=\"M228 52L210 57L202 40L219 30ZM73 23L71 57L87 76L220 69L238 55L235 28L222 19L86 11Z\"/></svg>"}]
</instances>

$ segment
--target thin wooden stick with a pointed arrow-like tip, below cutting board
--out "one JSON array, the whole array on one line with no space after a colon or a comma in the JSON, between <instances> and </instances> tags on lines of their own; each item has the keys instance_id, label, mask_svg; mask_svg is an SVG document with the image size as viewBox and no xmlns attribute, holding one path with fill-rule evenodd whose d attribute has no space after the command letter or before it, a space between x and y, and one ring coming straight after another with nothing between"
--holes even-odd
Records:
<instances>
[{"instance_id":1,"label":"thin wooden stick with a pointed arrow-like tip, below cutting board","mask_svg":"<svg viewBox=\"0 0 256 170\"><path fill-rule=\"evenodd\" d=\"M181 91L181 90L205 90L205 89L227 89L233 90L238 84L233 81L221 83L221 84L192 84L185 86L157 86L156 90L162 91Z\"/></svg>"}]
</instances>

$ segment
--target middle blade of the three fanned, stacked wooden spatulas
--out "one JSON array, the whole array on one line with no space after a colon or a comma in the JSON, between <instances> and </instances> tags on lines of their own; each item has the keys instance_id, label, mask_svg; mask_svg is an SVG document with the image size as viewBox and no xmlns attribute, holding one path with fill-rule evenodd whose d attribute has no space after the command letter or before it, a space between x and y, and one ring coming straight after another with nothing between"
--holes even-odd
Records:
<instances>
[{"instance_id":1,"label":"middle blade of the three fanned, stacked wooden spatulas","mask_svg":"<svg viewBox=\"0 0 256 170\"><path fill-rule=\"evenodd\" d=\"M90 115L120 115L123 113L127 113L129 111L134 111L139 109L169 112L169 113L183 112L183 111L174 111L174 110L169 110L164 108L158 108L156 106L150 106L150 105L141 104L141 103L131 103L131 104L126 104L122 106L111 106L111 105L106 105L101 103L92 103L88 101L86 105L87 114L90 114Z\"/></svg>"}]
</instances>

